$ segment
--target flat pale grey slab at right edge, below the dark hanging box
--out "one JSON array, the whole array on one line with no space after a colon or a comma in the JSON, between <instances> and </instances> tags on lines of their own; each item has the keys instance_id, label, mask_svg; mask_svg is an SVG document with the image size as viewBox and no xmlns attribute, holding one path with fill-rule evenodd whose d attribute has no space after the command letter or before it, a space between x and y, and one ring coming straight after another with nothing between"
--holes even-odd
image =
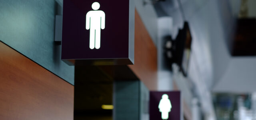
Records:
<instances>
[{"instance_id":1,"label":"flat pale grey slab at right edge, below the dark hanging box","mask_svg":"<svg viewBox=\"0 0 256 120\"><path fill-rule=\"evenodd\" d=\"M213 92L252 93L256 91L256 57L232 57Z\"/></svg>"}]
</instances>

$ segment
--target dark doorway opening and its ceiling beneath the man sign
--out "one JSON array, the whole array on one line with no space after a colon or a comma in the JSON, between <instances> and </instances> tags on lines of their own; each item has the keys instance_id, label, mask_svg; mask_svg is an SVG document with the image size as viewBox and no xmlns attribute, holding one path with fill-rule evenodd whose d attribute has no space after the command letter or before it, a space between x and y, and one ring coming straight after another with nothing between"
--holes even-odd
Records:
<instances>
[{"instance_id":1,"label":"dark doorway opening and its ceiling beneath the man sign","mask_svg":"<svg viewBox=\"0 0 256 120\"><path fill-rule=\"evenodd\" d=\"M125 73L125 74L124 74ZM114 81L138 80L128 66L75 66L74 120L112 120Z\"/></svg>"}]
</instances>

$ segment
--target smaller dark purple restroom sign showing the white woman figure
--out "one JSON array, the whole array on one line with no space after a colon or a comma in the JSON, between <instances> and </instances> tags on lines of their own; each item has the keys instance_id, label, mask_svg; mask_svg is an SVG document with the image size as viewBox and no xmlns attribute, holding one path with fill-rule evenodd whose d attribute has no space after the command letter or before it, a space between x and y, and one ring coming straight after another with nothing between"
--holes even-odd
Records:
<instances>
[{"instance_id":1,"label":"smaller dark purple restroom sign showing the white woman figure","mask_svg":"<svg viewBox=\"0 0 256 120\"><path fill-rule=\"evenodd\" d=\"M179 91L151 91L149 107L150 120L183 120Z\"/></svg>"}]
</instances>

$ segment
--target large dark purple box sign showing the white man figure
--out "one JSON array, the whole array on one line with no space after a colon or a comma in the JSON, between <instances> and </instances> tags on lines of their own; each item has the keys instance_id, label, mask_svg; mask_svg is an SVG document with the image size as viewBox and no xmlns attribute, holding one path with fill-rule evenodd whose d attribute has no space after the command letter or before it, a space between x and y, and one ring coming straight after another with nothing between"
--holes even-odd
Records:
<instances>
[{"instance_id":1,"label":"large dark purple box sign showing the white man figure","mask_svg":"<svg viewBox=\"0 0 256 120\"><path fill-rule=\"evenodd\" d=\"M134 0L64 0L61 59L70 65L134 62Z\"/></svg>"}]
</instances>

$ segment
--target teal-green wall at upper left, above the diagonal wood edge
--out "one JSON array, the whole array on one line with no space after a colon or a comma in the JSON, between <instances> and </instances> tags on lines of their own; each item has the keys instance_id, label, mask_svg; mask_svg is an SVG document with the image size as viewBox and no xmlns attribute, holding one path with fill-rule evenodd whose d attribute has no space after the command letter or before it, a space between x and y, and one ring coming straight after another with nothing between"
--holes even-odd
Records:
<instances>
[{"instance_id":1,"label":"teal-green wall at upper left, above the diagonal wood edge","mask_svg":"<svg viewBox=\"0 0 256 120\"><path fill-rule=\"evenodd\" d=\"M55 0L0 0L0 40L74 85L74 66L54 44Z\"/></svg>"}]
</instances>

